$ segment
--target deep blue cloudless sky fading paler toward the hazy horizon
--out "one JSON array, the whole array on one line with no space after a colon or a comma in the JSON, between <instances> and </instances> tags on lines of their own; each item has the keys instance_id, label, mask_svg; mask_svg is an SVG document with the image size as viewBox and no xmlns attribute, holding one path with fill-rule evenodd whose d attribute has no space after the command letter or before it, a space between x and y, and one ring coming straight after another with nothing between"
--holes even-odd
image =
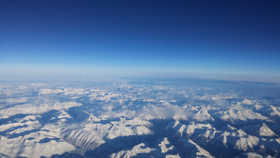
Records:
<instances>
[{"instance_id":1,"label":"deep blue cloudless sky fading paler toward the hazy horizon","mask_svg":"<svg viewBox=\"0 0 280 158\"><path fill-rule=\"evenodd\" d=\"M0 1L0 66L280 75L280 1Z\"/></svg>"}]
</instances>

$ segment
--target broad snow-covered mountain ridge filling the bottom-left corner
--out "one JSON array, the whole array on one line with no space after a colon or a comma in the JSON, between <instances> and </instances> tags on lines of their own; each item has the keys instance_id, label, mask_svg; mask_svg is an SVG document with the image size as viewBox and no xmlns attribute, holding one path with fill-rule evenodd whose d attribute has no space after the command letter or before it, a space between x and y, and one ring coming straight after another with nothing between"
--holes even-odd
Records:
<instances>
[{"instance_id":1,"label":"broad snow-covered mountain ridge filling the bottom-left corner","mask_svg":"<svg viewBox=\"0 0 280 158\"><path fill-rule=\"evenodd\" d=\"M9 157L51 157L53 154L75 150L76 147L61 140L57 133L41 131L24 137L0 138L0 152ZM43 150L42 150L43 149Z\"/></svg>"}]
</instances>

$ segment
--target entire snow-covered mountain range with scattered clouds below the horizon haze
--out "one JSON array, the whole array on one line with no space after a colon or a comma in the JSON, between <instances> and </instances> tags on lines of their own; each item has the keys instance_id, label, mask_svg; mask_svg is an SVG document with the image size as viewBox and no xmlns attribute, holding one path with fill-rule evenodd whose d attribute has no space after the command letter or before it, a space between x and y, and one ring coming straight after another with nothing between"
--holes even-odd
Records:
<instances>
[{"instance_id":1,"label":"entire snow-covered mountain range with scattered clouds below the horizon haze","mask_svg":"<svg viewBox=\"0 0 280 158\"><path fill-rule=\"evenodd\" d=\"M280 157L279 85L139 80L1 83L0 157Z\"/></svg>"}]
</instances>

